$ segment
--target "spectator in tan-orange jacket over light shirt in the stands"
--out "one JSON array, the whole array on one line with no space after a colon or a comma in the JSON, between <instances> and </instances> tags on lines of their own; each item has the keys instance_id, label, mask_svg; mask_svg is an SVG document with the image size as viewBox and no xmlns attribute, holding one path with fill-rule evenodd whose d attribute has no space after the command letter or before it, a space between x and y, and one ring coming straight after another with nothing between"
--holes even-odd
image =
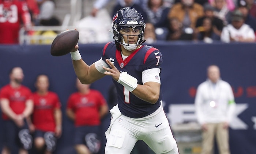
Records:
<instances>
[{"instance_id":1,"label":"spectator in tan-orange jacket over light shirt in the stands","mask_svg":"<svg viewBox=\"0 0 256 154\"><path fill-rule=\"evenodd\" d=\"M182 23L184 29L196 27L196 20L204 15L203 7L200 4L194 3L194 0L181 0L181 3L176 3L171 8L168 18L176 17ZM190 30L191 31L191 30Z\"/></svg>"}]
</instances>

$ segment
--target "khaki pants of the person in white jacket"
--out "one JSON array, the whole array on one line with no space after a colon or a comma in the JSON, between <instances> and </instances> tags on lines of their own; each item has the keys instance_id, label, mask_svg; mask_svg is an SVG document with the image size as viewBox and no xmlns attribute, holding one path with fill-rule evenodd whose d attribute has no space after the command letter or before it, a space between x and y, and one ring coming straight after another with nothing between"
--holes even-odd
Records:
<instances>
[{"instance_id":1,"label":"khaki pants of the person in white jacket","mask_svg":"<svg viewBox=\"0 0 256 154\"><path fill-rule=\"evenodd\" d=\"M203 131L202 153L212 154L214 138L216 137L219 154L230 154L229 130L223 129L223 123L208 123L208 130Z\"/></svg>"}]
</instances>

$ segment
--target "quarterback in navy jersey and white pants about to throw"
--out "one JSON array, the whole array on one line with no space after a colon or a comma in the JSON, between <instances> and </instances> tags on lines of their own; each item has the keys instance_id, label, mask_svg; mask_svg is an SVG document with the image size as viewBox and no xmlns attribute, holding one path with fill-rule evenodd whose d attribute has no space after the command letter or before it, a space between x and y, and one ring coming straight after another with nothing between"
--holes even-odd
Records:
<instances>
[{"instance_id":1,"label":"quarterback in navy jersey and white pants about to throw","mask_svg":"<svg viewBox=\"0 0 256 154\"><path fill-rule=\"evenodd\" d=\"M129 154L143 140L157 154L178 154L168 119L162 107L162 54L144 43L145 23L134 8L122 8L112 21L114 42L105 45L102 57L88 66L78 51L71 51L79 80L90 84L112 76L118 103L110 112L106 131L106 154Z\"/></svg>"}]
</instances>

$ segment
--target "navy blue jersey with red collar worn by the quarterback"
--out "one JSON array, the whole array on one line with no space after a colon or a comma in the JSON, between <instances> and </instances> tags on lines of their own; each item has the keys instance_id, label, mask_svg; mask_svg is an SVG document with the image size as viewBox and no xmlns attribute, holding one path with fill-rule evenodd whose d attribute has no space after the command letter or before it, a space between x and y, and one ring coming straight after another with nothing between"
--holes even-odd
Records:
<instances>
[{"instance_id":1,"label":"navy blue jersey with red collar worn by the quarterback","mask_svg":"<svg viewBox=\"0 0 256 154\"><path fill-rule=\"evenodd\" d=\"M109 42L105 45L102 51L102 59L105 61L109 59L120 72L127 72L129 75L138 80L138 84L142 83L142 72L150 68L161 68L162 54L161 52L151 46L142 46L134 51L125 60L123 60L121 51L116 49L114 42ZM156 76L158 78L158 76ZM142 118L154 111L160 106L162 100L162 92L160 89L160 96L155 104L151 104L129 92L120 83L114 79L113 82L117 90L118 108L121 113L131 118Z\"/></svg>"}]
</instances>

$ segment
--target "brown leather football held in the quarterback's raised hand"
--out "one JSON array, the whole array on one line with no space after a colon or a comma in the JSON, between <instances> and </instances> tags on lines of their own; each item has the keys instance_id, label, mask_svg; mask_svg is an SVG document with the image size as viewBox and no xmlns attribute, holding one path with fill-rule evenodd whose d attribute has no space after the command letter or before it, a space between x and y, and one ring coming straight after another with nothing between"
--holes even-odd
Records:
<instances>
[{"instance_id":1,"label":"brown leather football held in the quarterback's raised hand","mask_svg":"<svg viewBox=\"0 0 256 154\"><path fill-rule=\"evenodd\" d=\"M59 33L52 42L51 55L63 56L68 54L78 43L79 32L69 29Z\"/></svg>"}]
</instances>

